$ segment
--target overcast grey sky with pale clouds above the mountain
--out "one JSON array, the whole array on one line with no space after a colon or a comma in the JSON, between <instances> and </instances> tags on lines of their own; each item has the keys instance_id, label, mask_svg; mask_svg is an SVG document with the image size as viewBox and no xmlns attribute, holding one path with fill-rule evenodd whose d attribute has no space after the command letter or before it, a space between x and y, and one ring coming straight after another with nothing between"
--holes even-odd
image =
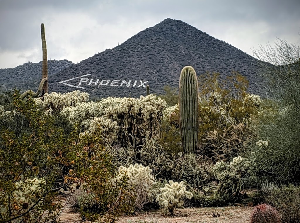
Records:
<instances>
[{"instance_id":1,"label":"overcast grey sky with pale clouds above the mountain","mask_svg":"<svg viewBox=\"0 0 300 223\"><path fill-rule=\"evenodd\" d=\"M253 56L276 37L300 42L300 0L0 0L0 68L48 59L78 63L166 18Z\"/></svg>"}]
</instances>

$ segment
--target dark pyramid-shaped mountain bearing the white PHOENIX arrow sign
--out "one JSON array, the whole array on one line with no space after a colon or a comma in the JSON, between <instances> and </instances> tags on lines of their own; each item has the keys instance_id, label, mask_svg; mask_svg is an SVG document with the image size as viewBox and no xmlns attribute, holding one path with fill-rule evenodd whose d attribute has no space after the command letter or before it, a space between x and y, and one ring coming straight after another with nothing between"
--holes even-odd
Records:
<instances>
[{"instance_id":1,"label":"dark pyramid-shaped mountain bearing the white PHOENIX arrow sign","mask_svg":"<svg viewBox=\"0 0 300 223\"><path fill-rule=\"evenodd\" d=\"M80 90L99 97L139 97L146 94L148 84L152 93L163 93L165 85L178 87L181 69L191 65L197 74L216 71L222 78L230 75L232 70L238 71L250 81L250 92L261 94L257 85L260 83L258 62L185 22L165 19L113 49L78 64L62 66L55 74L50 72L49 66L49 74L52 74L49 76L49 90ZM14 74L10 81L19 84L29 80L27 74L19 79L15 77L21 75ZM28 88L29 82L23 86Z\"/></svg>"}]
</instances>

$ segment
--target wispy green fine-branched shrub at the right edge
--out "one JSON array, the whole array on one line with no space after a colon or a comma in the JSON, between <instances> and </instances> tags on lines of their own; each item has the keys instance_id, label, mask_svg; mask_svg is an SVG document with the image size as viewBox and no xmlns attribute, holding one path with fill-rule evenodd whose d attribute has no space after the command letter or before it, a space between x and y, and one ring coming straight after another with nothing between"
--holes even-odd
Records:
<instances>
[{"instance_id":1,"label":"wispy green fine-branched shrub at the right edge","mask_svg":"<svg viewBox=\"0 0 300 223\"><path fill-rule=\"evenodd\" d=\"M270 141L268 147L257 147L253 141L247 154L257 164L259 178L276 183L300 183L300 47L278 39L274 45L254 52L261 61L261 75L270 92L276 115L263 117L257 124L259 139ZM260 179L260 180L262 180Z\"/></svg>"}]
</instances>

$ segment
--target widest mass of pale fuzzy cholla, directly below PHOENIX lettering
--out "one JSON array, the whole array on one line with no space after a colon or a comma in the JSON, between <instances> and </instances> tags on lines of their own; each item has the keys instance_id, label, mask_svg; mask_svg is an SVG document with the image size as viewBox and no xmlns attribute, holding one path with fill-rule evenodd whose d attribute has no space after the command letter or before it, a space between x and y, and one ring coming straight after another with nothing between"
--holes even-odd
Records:
<instances>
[{"instance_id":1,"label":"widest mass of pale fuzzy cholla, directly below PHOENIX lettering","mask_svg":"<svg viewBox=\"0 0 300 223\"><path fill-rule=\"evenodd\" d=\"M111 140L117 139L118 131L124 131L134 125L133 134L137 129L141 134L146 134L150 126L158 126L162 113L167 103L153 94L136 98L108 97L100 102L82 102L74 107L66 107L61 111L73 123L84 127L86 132L92 134L95 131L110 132ZM152 125L150 125L152 123ZM122 128L120 127L122 126ZM155 129L154 129L155 132Z\"/></svg>"}]
</instances>

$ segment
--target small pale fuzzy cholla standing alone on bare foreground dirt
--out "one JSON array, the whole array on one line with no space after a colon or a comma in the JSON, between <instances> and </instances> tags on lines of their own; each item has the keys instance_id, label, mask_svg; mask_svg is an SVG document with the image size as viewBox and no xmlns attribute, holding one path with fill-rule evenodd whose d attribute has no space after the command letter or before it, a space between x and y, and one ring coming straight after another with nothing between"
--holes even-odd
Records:
<instances>
[{"instance_id":1,"label":"small pale fuzzy cholla standing alone on bare foreground dirt","mask_svg":"<svg viewBox=\"0 0 300 223\"><path fill-rule=\"evenodd\" d=\"M156 201L158 201L161 207L168 210L171 215L174 214L176 207L183 205L182 198L187 197L190 199L193 197L193 193L186 190L183 181L178 183L169 180L169 183L166 183L165 186L159 190L160 192L156 196Z\"/></svg>"}]
</instances>

